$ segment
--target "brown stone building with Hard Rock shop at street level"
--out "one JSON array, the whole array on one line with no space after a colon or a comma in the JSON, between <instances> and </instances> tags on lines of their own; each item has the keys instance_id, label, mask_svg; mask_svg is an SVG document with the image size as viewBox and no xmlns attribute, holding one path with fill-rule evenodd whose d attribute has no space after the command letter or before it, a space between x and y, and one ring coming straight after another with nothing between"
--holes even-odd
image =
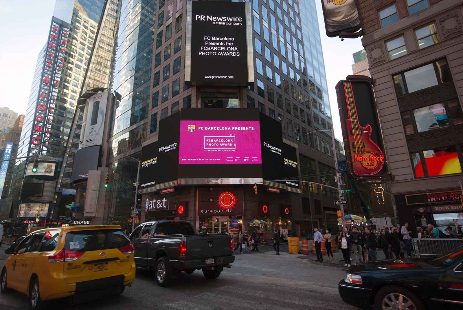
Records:
<instances>
[{"instance_id":1,"label":"brown stone building with Hard Rock shop at street level","mask_svg":"<svg viewBox=\"0 0 463 310\"><path fill-rule=\"evenodd\" d=\"M399 220L447 234L463 210L463 3L358 6Z\"/></svg>"}]
</instances>

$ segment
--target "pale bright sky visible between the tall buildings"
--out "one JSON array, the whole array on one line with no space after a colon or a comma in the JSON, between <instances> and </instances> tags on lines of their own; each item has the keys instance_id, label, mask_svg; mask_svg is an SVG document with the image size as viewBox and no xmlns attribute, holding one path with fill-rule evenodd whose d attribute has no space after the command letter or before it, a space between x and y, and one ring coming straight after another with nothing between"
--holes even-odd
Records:
<instances>
[{"instance_id":1,"label":"pale bright sky visible between the tall buildings","mask_svg":"<svg viewBox=\"0 0 463 310\"><path fill-rule=\"evenodd\" d=\"M321 1L317 4L319 29L330 97L335 136L342 140L335 86L352 74L352 54L363 49L360 38L328 38L325 33ZM20 114L25 113L32 77L39 51L47 39L55 0L24 2L2 0L0 10L0 107L8 107ZM21 18L18 18L21 12Z\"/></svg>"}]
</instances>

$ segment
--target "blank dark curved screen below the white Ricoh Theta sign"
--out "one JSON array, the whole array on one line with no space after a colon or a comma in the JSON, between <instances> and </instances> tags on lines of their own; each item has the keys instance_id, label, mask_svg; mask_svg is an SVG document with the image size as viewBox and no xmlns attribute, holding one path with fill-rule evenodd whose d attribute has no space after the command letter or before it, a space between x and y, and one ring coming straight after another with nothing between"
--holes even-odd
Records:
<instances>
[{"instance_id":1,"label":"blank dark curved screen below the white Ricoh Theta sign","mask_svg":"<svg viewBox=\"0 0 463 310\"><path fill-rule=\"evenodd\" d=\"M89 170L98 170L101 146L87 146L75 152L71 182L88 178Z\"/></svg>"}]
</instances>

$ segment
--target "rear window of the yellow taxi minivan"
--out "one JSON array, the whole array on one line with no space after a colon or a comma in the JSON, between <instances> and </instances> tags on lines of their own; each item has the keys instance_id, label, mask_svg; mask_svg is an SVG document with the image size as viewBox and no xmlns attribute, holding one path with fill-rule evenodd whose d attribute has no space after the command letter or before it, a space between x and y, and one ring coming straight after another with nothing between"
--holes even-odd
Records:
<instances>
[{"instance_id":1,"label":"rear window of the yellow taxi minivan","mask_svg":"<svg viewBox=\"0 0 463 310\"><path fill-rule=\"evenodd\" d=\"M86 252L120 248L130 240L120 229L77 230L66 234L65 250Z\"/></svg>"}]
</instances>

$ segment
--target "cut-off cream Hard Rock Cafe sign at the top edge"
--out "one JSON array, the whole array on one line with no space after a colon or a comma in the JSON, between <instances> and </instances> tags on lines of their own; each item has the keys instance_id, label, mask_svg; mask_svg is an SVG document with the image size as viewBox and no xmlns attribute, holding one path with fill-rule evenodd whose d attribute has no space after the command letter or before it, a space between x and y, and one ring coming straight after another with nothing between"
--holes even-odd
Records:
<instances>
[{"instance_id":1,"label":"cut-off cream Hard Rock Cafe sign at the top edge","mask_svg":"<svg viewBox=\"0 0 463 310\"><path fill-rule=\"evenodd\" d=\"M321 4L328 37L344 34L344 38L357 38L360 35L349 36L361 28L357 0L321 0Z\"/></svg>"}]
</instances>

